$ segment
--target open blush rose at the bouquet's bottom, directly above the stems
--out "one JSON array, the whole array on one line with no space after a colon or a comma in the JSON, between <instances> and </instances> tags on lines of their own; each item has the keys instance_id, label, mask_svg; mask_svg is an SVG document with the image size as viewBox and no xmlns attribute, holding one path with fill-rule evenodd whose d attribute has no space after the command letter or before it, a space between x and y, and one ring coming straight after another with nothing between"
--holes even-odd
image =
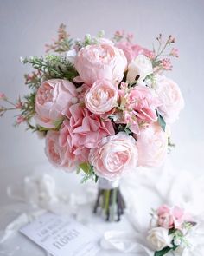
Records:
<instances>
[{"instance_id":1,"label":"open blush rose at the bouquet's bottom, directly above the stems","mask_svg":"<svg viewBox=\"0 0 204 256\"><path fill-rule=\"evenodd\" d=\"M107 136L98 148L91 149L89 162L99 177L114 181L137 166L136 141L124 132Z\"/></svg>"}]
</instances>

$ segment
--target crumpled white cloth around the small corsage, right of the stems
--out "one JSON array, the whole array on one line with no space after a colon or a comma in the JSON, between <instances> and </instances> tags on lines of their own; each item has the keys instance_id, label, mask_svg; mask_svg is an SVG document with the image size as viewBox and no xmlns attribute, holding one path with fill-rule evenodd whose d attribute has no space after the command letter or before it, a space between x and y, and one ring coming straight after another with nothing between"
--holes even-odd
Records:
<instances>
[{"instance_id":1,"label":"crumpled white cloth around the small corsage, right of the stems","mask_svg":"<svg viewBox=\"0 0 204 256\"><path fill-rule=\"evenodd\" d=\"M161 169L137 168L136 174L124 177L123 194L128 205L127 217L135 232L111 230L104 233L101 246L124 253L152 256L154 252L146 240L150 226L151 208L162 204L184 207L192 213L198 225L189 235L192 246L175 251L175 255L204 255L204 175L177 171L166 164ZM169 253L170 255L170 253Z\"/></svg>"}]
</instances>

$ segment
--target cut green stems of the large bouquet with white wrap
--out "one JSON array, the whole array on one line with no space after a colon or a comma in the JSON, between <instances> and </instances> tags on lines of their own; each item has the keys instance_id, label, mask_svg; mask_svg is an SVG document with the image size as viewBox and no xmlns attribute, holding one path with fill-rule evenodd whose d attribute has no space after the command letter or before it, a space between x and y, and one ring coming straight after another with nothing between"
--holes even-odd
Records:
<instances>
[{"instance_id":1,"label":"cut green stems of the large bouquet with white wrap","mask_svg":"<svg viewBox=\"0 0 204 256\"><path fill-rule=\"evenodd\" d=\"M125 202L120 192L119 181L99 178L97 200L93 213L101 214L107 221L119 221L124 214Z\"/></svg>"}]
</instances>

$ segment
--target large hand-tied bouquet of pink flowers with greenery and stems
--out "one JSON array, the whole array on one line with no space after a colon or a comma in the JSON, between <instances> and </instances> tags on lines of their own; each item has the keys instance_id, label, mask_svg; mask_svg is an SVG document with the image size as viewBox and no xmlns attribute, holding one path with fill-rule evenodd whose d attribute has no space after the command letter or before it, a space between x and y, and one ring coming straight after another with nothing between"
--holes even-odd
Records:
<instances>
[{"instance_id":1,"label":"large hand-tied bouquet of pink flowers with greenery and stems","mask_svg":"<svg viewBox=\"0 0 204 256\"><path fill-rule=\"evenodd\" d=\"M158 167L168 152L169 125L184 102L178 85L163 75L171 70L175 38L156 38L158 47L132 43L117 31L73 40L61 25L58 39L44 57L21 58L35 71L25 75L31 93L0 107L0 115L18 109L16 124L45 136L45 151L55 167L84 173L83 181L99 179L94 211L107 220L124 212L118 189L122 175L134 167ZM170 47L170 49L168 49ZM77 167L77 168L76 168Z\"/></svg>"}]
</instances>

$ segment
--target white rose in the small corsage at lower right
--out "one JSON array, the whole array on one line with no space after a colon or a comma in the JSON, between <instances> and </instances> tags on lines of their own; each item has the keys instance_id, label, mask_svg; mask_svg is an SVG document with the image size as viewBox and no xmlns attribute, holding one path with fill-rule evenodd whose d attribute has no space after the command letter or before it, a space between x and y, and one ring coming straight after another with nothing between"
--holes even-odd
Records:
<instances>
[{"instance_id":1,"label":"white rose in the small corsage at lower right","mask_svg":"<svg viewBox=\"0 0 204 256\"><path fill-rule=\"evenodd\" d=\"M169 235L169 230L161 226L154 227L148 232L147 240L155 251L161 251L165 247L172 247L173 236Z\"/></svg>"}]
</instances>

